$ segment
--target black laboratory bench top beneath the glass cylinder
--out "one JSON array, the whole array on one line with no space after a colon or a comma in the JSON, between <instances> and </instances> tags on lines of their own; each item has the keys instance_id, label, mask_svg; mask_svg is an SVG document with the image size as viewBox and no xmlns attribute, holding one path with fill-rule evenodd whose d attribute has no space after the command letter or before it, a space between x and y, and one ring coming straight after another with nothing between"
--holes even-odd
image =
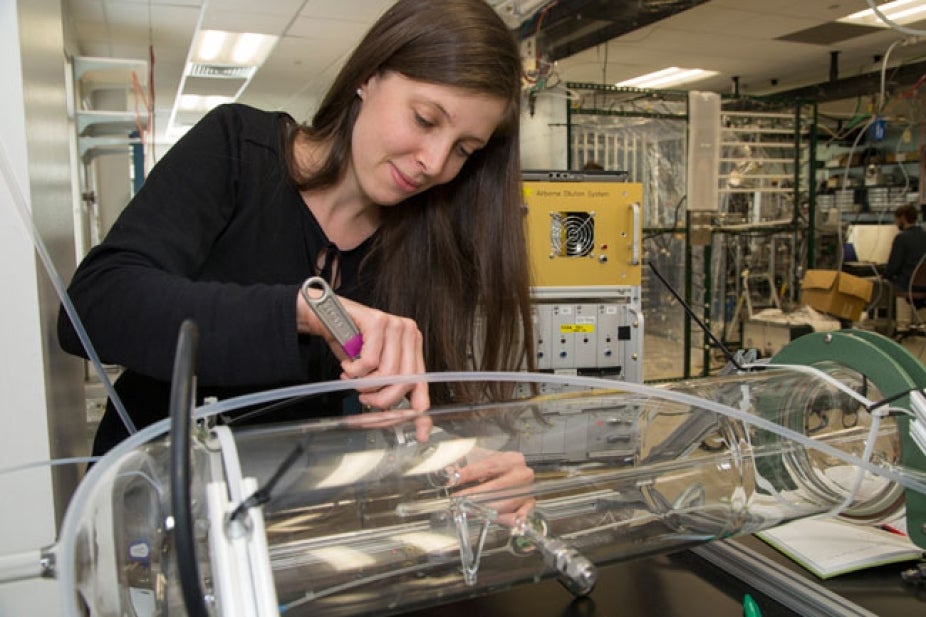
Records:
<instances>
[{"instance_id":1,"label":"black laboratory bench top beneath the glass cylinder","mask_svg":"<svg viewBox=\"0 0 926 617\"><path fill-rule=\"evenodd\" d=\"M556 580L522 585L487 596L404 613L404 617L741 617L743 600L752 596L762 617L812 615L878 615L910 617L926 614L926 588L904 581L909 564L893 564L821 581L753 536L724 543L761 556L774 566L751 575L763 579L776 568L804 590L822 588L860 610L796 612L780 602L782 592L767 595L715 565L697 551L683 550L601 566L598 583L582 598L573 598ZM716 544L716 543L712 543ZM806 586L803 582L806 581ZM790 595L790 594L788 594ZM793 600L792 600L793 603ZM828 609L832 610L832 609ZM822 612L821 612L822 611Z\"/></svg>"}]
</instances>

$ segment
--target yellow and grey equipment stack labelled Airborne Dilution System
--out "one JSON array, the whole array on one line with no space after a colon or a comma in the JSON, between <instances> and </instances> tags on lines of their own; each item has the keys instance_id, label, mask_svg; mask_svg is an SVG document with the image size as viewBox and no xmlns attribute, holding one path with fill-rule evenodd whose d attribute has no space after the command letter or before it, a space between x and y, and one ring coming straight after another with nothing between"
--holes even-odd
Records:
<instances>
[{"instance_id":1,"label":"yellow and grey equipment stack labelled Airborne Dilution System","mask_svg":"<svg viewBox=\"0 0 926 617\"><path fill-rule=\"evenodd\" d=\"M643 381L643 185L624 172L523 181L537 369Z\"/></svg>"}]
</instances>

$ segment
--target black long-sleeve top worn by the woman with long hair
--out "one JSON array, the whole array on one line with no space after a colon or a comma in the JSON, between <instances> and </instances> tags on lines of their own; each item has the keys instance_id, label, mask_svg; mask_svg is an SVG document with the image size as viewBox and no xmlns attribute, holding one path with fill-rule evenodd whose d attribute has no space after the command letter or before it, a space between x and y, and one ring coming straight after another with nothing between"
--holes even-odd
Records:
<instances>
[{"instance_id":1,"label":"black long-sleeve top worn by the woman with long hair","mask_svg":"<svg viewBox=\"0 0 926 617\"><path fill-rule=\"evenodd\" d=\"M167 415L187 318L200 331L202 396L339 373L321 339L297 333L297 293L308 276L326 276L317 264L327 253L338 259L338 293L368 303L359 267L372 240L341 252L325 236L288 177L291 122L243 105L210 112L154 166L74 275L69 294L102 361L125 367L116 390L139 427ZM63 311L58 336L85 355ZM111 407L97 453L126 435Z\"/></svg>"}]
</instances>

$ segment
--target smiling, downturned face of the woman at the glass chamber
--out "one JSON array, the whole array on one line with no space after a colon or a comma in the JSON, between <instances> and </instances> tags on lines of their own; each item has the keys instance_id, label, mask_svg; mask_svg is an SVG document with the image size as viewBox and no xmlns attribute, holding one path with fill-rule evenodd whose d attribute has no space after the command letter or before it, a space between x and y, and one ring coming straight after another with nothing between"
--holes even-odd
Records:
<instances>
[{"instance_id":1,"label":"smiling, downturned face of the woman at the glass chamber","mask_svg":"<svg viewBox=\"0 0 926 617\"><path fill-rule=\"evenodd\" d=\"M394 205L452 180L504 117L504 99L387 72L362 87L351 137L360 191Z\"/></svg>"}]
</instances>

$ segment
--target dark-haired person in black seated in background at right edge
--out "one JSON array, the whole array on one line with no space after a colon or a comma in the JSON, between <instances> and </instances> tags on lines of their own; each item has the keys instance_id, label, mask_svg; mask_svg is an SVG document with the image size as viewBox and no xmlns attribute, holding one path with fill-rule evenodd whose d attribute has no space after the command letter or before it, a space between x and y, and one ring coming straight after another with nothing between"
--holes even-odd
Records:
<instances>
[{"instance_id":1,"label":"dark-haired person in black seated in background at right edge","mask_svg":"<svg viewBox=\"0 0 926 617\"><path fill-rule=\"evenodd\" d=\"M906 298L913 271L926 254L926 230L917 224L918 216L916 207L910 204L894 211L894 222L900 233L894 236L884 268L884 278L891 282L897 296L894 323L895 331L900 333L909 329L913 311L921 308L911 307Z\"/></svg>"}]
</instances>

